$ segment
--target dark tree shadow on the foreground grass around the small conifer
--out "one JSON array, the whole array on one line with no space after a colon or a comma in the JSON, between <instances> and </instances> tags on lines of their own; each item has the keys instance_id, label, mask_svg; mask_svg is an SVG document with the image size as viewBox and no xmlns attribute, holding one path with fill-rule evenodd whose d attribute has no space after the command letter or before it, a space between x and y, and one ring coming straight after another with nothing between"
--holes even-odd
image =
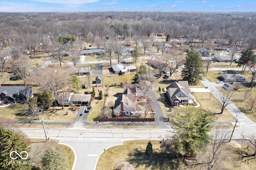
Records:
<instances>
[{"instance_id":1,"label":"dark tree shadow on the foreground grass around the small conifer","mask_svg":"<svg viewBox=\"0 0 256 170\"><path fill-rule=\"evenodd\" d=\"M141 148L130 151L126 161L131 162L135 168L145 166L147 170L179 169L185 163L183 158L173 158L172 155L158 150L154 151L151 156L148 156Z\"/></svg>"}]
</instances>

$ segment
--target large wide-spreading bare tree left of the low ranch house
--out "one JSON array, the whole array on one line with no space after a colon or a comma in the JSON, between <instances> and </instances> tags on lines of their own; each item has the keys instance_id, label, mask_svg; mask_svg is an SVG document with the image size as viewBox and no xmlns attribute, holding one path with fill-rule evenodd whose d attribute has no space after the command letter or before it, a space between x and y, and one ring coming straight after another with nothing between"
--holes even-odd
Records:
<instances>
[{"instance_id":1,"label":"large wide-spreading bare tree left of the low ranch house","mask_svg":"<svg viewBox=\"0 0 256 170\"><path fill-rule=\"evenodd\" d=\"M71 84L72 77L70 71L62 68L45 67L32 74L33 79L38 83L42 91L49 91L53 97L62 105L68 95L68 85Z\"/></svg>"}]
</instances>

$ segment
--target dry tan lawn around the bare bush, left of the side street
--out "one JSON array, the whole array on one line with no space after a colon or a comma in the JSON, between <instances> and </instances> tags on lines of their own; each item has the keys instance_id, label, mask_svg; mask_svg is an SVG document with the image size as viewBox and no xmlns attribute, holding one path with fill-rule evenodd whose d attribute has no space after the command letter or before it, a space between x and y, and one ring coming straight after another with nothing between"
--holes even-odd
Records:
<instances>
[{"instance_id":1,"label":"dry tan lawn around the bare bush, left of the side street","mask_svg":"<svg viewBox=\"0 0 256 170\"><path fill-rule=\"evenodd\" d=\"M30 139L29 146L31 147L31 151L29 152L30 159L32 159L32 162L34 164L39 164L41 162L42 156L46 153L46 150L48 148L54 148L58 151L60 151L68 164L67 169L71 170L72 166L74 164L75 155L71 148L69 148L66 145L58 144L58 141L56 140L50 140L50 142L46 142L45 139Z\"/></svg>"}]
</instances>

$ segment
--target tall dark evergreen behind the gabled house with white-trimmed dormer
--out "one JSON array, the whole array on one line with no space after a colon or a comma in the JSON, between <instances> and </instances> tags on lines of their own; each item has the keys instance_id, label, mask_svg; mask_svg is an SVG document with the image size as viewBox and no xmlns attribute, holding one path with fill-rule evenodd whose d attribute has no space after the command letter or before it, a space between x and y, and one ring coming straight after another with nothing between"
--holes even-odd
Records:
<instances>
[{"instance_id":1,"label":"tall dark evergreen behind the gabled house with white-trimmed dormer","mask_svg":"<svg viewBox=\"0 0 256 170\"><path fill-rule=\"evenodd\" d=\"M186 57L186 71L182 71L182 80L188 81L189 85L197 85L204 76L203 61L199 52L190 51Z\"/></svg>"}]
</instances>

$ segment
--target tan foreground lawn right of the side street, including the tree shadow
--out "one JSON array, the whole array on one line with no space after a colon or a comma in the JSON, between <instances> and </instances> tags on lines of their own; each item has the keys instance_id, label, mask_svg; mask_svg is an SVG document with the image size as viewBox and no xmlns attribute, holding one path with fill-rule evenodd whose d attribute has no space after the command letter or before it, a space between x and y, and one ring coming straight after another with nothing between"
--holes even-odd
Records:
<instances>
[{"instance_id":1,"label":"tan foreground lawn right of the side street, including the tree shadow","mask_svg":"<svg viewBox=\"0 0 256 170\"><path fill-rule=\"evenodd\" d=\"M134 166L136 170L188 170L191 169L187 165L190 160L172 159L168 154L162 152L159 140L152 140L153 155L145 154L148 140L131 140L124 142L124 145L113 146L106 150L100 156L96 170L113 170L114 165L120 161L127 161ZM238 144L235 141L228 144L231 148L244 148L247 144ZM232 150L228 150L228 158L225 162L221 162L219 166L226 170L253 170L255 168L256 159L250 163L238 161L238 154L234 154ZM253 168L254 167L254 168Z\"/></svg>"}]
</instances>

